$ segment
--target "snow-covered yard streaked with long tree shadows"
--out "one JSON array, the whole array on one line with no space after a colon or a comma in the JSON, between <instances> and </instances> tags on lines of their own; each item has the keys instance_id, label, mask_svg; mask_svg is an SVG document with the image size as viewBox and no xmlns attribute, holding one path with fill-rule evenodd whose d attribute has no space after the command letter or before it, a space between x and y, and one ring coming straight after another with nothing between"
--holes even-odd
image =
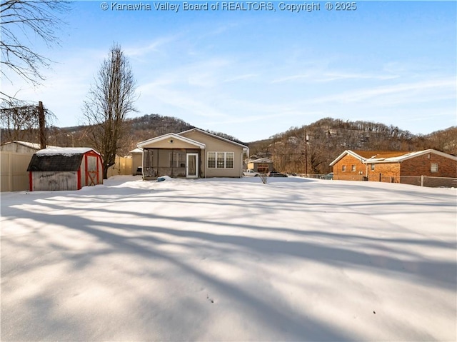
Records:
<instances>
[{"instance_id":1,"label":"snow-covered yard streaked with long tree shadows","mask_svg":"<svg viewBox=\"0 0 457 342\"><path fill-rule=\"evenodd\" d=\"M456 341L456 189L270 178L1 194L1 341Z\"/></svg>"}]
</instances>

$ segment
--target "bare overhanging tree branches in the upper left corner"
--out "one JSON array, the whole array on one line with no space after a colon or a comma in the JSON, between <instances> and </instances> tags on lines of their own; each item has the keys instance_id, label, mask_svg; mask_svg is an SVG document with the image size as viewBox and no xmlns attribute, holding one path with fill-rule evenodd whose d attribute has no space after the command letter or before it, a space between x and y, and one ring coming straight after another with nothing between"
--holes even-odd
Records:
<instances>
[{"instance_id":1,"label":"bare overhanging tree branches in the upper left corner","mask_svg":"<svg viewBox=\"0 0 457 342\"><path fill-rule=\"evenodd\" d=\"M59 44L56 30L62 21L59 14L69 9L64 0L6 0L0 2L1 16L1 74L13 71L29 83L36 85L44 79L39 71L47 67L51 59L40 54L34 47L36 39L47 46ZM0 93L3 99L11 99Z\"/></svg>"}]
</instances>

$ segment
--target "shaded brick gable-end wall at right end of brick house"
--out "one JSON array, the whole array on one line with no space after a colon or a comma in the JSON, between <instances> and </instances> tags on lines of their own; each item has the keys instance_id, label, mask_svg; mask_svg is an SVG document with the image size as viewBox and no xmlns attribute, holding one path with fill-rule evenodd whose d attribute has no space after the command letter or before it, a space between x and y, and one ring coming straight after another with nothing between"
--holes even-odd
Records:
<instances>
[{"instance_id":1,"label":"shaded brick gable-end wall at right end of brick house","mask_svg":"<svg viewBox=\"0 0 457 342\"><path fill-rule=\"evenodd\" d=\"M438 164L438 172L431 172L431 164ZM457 177L457 161L438 154L424 154L401 163L401 176Z\"/></svg>"}]
</instances>

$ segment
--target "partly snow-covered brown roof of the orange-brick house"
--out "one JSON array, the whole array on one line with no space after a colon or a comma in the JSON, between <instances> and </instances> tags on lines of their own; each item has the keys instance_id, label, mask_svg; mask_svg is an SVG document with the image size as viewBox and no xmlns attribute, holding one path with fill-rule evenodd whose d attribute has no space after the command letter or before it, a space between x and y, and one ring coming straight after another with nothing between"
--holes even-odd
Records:
<instances>
[{"instance_id":1,"label":"partly snow-covered brown roof of the orange-brick house","mask_svg":"<svg viewBox=\"0 0 457 342\"><path fill-rule=\"evenodd\" d=\"M438 154L439 156L446 157L457 161L456 156L451 154L445 154L441 151L436 151L433 149L427 149L423 151L351 151L346 150L340 154L334 161L331 162L330 166L335 165L340 161L344 156L350 154L351 156L360 159L363 164L376 164L376 163L400 163L406 159L411 159L417 156L422 156L423 154Z\"/></svg>"}]
</instances>

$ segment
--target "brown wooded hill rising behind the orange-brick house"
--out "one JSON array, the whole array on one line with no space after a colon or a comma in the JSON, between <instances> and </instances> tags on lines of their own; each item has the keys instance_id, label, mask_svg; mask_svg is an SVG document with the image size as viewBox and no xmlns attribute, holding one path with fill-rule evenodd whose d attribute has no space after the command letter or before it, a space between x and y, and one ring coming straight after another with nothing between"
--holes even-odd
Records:
<instances>
[{"instance_id":1,"label":"brown wooded hill rising behind the orange-brick house","mask_svg":"<svg viewBox=\"0 0 457 342\"><path fill-rule=\"evenodd\" d=\"M271 139L249 144L251 155L267 157L283 172L327 173L331 161L346 149L366 151L417 151L436 149L457 155L457 126L418 136L396 126L370 121L325 118L293 127Z\"/></svg>"}]
</instances>

